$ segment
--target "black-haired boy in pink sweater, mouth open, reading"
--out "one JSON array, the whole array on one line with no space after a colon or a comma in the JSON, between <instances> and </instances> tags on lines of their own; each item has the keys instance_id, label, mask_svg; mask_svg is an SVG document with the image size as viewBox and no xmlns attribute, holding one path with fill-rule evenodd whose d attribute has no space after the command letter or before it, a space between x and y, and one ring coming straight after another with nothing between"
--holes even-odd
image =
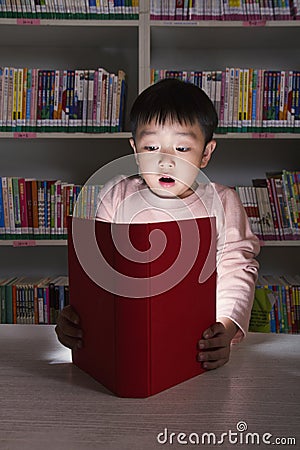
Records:
<instances>
[{"instance_id":1,"label":"black-haired boy in pink sweater, mouth open, reading","mask_svg":"<svg viewBox=\"0 0 300 450\"><path fill-rule=\"evenodd\" d=\"M216 111L200 88L166 79L137 97L130 119L130 144L140 175L107 183L97 217L156 222L217 216L217 322L198 342L199 363L215 369L229 360L231 342L241 340L248 329L259 252L237 194L225 186L197 182L199 169L207 166L216 147ZM60 342L74 350L83 345L79 320L68 306L56 327Z\"/></svg>"}]
</instances>

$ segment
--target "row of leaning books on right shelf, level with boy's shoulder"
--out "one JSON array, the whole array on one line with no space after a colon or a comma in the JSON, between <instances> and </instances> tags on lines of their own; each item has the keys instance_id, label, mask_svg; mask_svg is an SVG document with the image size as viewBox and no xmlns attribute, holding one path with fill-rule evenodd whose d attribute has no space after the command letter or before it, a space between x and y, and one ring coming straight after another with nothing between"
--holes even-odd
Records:
<instances>
[{"instance_id":1,"label":"row of leaning books on right shelf, level with boy's shoulder","mask_svg":"<svg viewBox=\"0 0 300 450\"><path fill-rule=\"evenodd\" d=\"M252 186L236 186L252 231L261 240L300 239L299 171L267 172Z\"/></svg>"}]
</instances>

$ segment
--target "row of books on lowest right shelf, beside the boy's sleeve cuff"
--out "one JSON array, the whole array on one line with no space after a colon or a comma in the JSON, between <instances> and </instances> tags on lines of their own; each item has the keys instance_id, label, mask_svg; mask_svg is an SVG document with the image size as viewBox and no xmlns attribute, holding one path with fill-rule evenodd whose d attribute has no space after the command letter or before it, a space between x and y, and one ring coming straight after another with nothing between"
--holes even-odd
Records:
<instances>
[{"instance_id":1,"label":"row of books on lowest right shelf, beside the boy's sleeve cuff","mask_svg":"<svg viewBox=\"0 0 300 450\"><path fill-rule=\"evenodd\" d=\"M259 275L249 330L299 334L299 299L299 275Z\"/></svg>"}]
</instances>

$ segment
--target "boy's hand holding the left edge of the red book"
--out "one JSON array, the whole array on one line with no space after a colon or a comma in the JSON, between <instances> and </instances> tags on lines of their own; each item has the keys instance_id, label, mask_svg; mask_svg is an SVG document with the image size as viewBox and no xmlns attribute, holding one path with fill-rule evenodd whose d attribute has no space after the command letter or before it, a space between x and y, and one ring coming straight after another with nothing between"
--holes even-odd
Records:
<instances>
[{"instance_id":1,"label":"boy's hand holding the left edge of the red book","mask_svg":"<svg viewBox=\"0 0 300 450\"><path fill-rule=\"evenodd\" d=\"M79 316L71 305L66 306L61 311L55 331L61 344L71 350L82 348L82 331L79 327Z\"/></svg>"}]
</instances>

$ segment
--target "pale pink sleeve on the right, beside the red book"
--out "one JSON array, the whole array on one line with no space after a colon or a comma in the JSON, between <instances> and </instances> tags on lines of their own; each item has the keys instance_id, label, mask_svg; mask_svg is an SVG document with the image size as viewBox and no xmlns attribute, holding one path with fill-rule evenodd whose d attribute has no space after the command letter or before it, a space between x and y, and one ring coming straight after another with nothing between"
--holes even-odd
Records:
<instances>
[{"instance_id":1,"label":"pale pink sleeve on the right, beside the red book","mask_svg":"<svg viewBox=\"0 0 300 450\"><path fill-rule=\"evenodd\" d=\"M217 316L238 325L233 342L239 342L248 331L259 267L255 256L260 246L237 193L226 189L222 203L226 234L217 270Z\"/></svg>"}]
</instances>

